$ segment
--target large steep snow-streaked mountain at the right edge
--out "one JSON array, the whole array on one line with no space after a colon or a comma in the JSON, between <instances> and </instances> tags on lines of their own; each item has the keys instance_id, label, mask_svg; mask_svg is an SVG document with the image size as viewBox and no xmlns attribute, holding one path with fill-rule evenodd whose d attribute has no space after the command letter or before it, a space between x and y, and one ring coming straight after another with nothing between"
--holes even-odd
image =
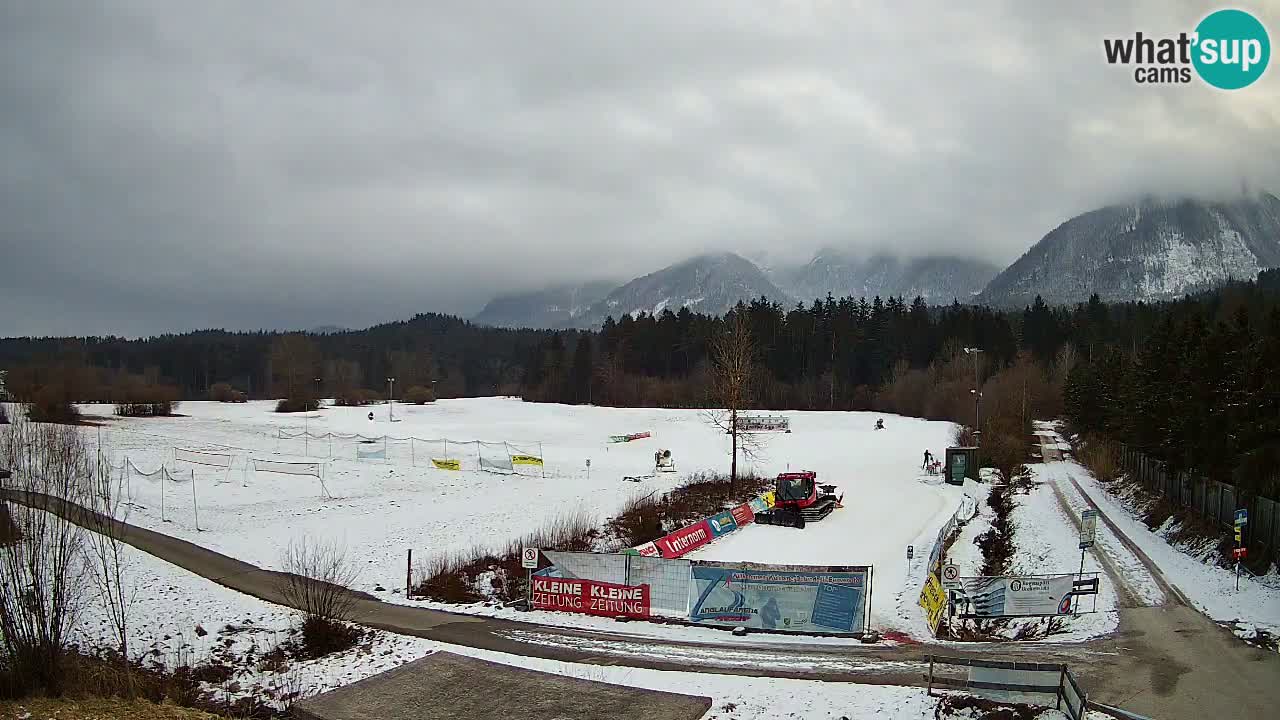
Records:
<instances>
[{"instance_id":1,"label":"large steep snow-streaked mountain at the right edge","mask_svg":"<svg viewBox=\"0 0 1280 720\"><path fill-rule=\"evenodd\" d=\"M991 281L980 302L1161 300L1280 266L1280 200L1146 200L1085 213Z\"/></svg>"}]
</instances>

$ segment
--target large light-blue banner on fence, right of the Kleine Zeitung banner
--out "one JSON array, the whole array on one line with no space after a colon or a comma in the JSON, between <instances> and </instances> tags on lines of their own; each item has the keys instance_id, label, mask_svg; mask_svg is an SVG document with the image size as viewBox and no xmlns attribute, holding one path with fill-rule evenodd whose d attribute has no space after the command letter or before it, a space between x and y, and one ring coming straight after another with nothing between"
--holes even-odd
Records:
<instances>
[{"instance_id":1,"label":"large light-blue banner on fence, right of the Kleine Zeitung banner","mask_svg":"<svg viewBox=\"0 0 1280 720\"><path fill-rule=\"evenodd\" d=\"M694 562L690 620L799 633L859 633L869 568Z\"/></svg>"}]
</instances>

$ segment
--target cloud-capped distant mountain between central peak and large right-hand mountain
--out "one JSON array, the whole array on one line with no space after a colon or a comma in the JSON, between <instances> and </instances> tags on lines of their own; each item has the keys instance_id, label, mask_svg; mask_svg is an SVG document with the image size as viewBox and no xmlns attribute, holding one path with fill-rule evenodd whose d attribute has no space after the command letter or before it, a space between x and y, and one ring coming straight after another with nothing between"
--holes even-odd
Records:
<instances>
[{"instance_id":1,"label":"cloud-capped distant mountain between central peak and large right-hand mountain","mask_svg":"<svg viewBox=\"0 0 1280 720\"><path fill-rule=\"evenodd\" d=\"M778 278L792 296L808 302L826 297L890 297L911 300L920 296L932 304L973 300L1000 270L980 260L950 256L900 260L891 255L859 259L852 254L826 249L808 264L780 272Z\"/></svg>"}]
</instances>

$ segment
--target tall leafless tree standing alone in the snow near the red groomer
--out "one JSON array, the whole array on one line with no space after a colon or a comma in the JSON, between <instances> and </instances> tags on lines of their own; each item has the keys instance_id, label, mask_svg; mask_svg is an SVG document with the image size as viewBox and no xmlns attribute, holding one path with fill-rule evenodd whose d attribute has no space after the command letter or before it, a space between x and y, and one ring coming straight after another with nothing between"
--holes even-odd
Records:
<instances>
[{"instance_id":1,"label":"tall leafless tree standing alone in the snow near the red groomer","mask_svg":"<svg viewBox=\"0 0 1280 720\"><path fill-rule=\"evenodd\" d=\"M737 491L737 456L751 459L762 451L760 436L739 430L739 415L755 400L755 342L741 307L724 318L723 331L710 343L710 401L707 413L712 425L728 433L732 445L730 493Z\"/></svg>"}]
</instances>

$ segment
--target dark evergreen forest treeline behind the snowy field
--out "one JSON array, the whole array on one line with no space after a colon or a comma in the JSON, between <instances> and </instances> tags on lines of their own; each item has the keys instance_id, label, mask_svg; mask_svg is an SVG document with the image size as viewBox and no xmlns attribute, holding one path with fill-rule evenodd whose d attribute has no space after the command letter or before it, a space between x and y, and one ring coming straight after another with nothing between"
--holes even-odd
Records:
<instances>
[{"instance_id":1,"label":"dark evergreen forest treeline behind the snowy field","mask_svg":"<svg viewBox=\"0 0 1280 720\"><path fill-rule=\"evenodd\" d=\"M977 415L984 454L1006 469L1025 456L1032 419L1065 415L1175 468L1260 487L1280 438L1277 299L1280 272L1268 270L1174 302L1093 297L1051 307L1037 299L1004 311L828 296L792 307L759 299L733 313L751 337L756 409L877 410L969 432ZM397 398L413 388L420 401L521 395L700 407L714 405L710 354L726 325L687 309L608 319L590 332L424 314L325 334L9 338L0 368L19 398L120 402L159 386L174 398L243 393L305 407L315 397L378 401L394 377Z\"/></svg>"}]
</instances>

